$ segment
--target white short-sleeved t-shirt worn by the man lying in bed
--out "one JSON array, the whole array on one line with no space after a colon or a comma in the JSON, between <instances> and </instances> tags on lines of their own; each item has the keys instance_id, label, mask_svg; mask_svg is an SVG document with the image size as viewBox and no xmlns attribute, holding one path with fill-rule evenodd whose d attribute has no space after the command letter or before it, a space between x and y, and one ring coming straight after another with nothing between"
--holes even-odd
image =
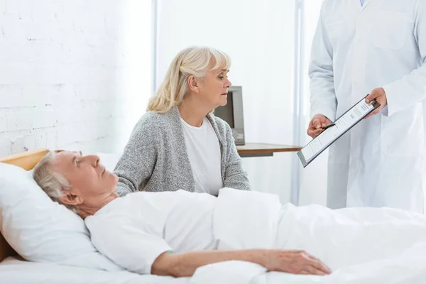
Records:
<instances>
[{"instance_id":1,"label":"white short-sleeved t-shirt worn by the man lying in bed","mask_svg":"<svg viewBox=\"0 0 426 284\"><path fill-rule=\"evenodd\" d=\"M84 222L100 253L129 271L150 274L155 258L165 251L217 249L216 200L185 190L134 192L113 200Z\"/></svg>"}]
</instances>

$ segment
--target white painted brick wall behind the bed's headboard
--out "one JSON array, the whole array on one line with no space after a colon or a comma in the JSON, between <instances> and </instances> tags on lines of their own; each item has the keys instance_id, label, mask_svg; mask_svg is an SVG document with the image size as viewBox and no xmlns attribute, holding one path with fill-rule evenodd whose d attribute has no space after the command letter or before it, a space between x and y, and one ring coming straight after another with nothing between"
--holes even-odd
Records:
<instances>
[{"instance_id":1,"label":"white painted brick wall behind the bed's headboard","mask_svg":"<svg viewBox=\"0 0 426 284\"><path fill-rule=\"evenodd\" d=\"M120 151L151 78L151 1L0 0L0 156Z\"/></svg>"}]
</instances>

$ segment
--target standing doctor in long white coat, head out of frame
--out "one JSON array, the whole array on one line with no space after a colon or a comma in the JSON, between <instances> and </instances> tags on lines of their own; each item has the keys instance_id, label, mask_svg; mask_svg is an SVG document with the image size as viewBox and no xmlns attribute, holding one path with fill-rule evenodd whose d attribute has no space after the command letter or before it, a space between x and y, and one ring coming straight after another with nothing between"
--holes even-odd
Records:
<instances>
[{"instance_id":1,"label":"standing doctor in long white coat, head out of frame","mask_svg":"<svg viewBox=\"0 0 426 284\"><path fill-rule=\"evenodd\" d=\"M329 148L327 206L425 204L426 0L325 0L312 43L312 138L360 99L381 103Z\"/></svg>"}]
</instances>

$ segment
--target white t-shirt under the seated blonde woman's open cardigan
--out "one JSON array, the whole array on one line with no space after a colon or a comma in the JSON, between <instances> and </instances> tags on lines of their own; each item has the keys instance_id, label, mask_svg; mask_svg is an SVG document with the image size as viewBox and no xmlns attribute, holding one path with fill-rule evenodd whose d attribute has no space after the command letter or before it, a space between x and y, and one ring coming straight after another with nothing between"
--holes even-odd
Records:
<instances>
[{"instance_id":1,"label":"white t-shirt under the seated blonde woman's open cardigan","mask_svg":"<svg viewBox=\"0 0 426 284\"><path fill-rule=\"evenodd\" d=\"M200 127L191 126L182 118L180 120L194 175L195 192L217 196L222 188L221 153L212 124L207 117L204 117Z\"/></svg>"}]
</instances>

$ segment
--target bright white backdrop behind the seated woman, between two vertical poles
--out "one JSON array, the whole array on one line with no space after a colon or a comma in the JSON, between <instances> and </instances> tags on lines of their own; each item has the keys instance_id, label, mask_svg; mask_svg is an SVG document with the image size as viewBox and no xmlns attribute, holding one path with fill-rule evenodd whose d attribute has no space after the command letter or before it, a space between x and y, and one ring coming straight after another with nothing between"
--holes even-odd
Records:
<instances>
[{"instance_id":1,"label":"bright white backdrop behind the seated woman, between two vertical poles","mask_svg":"<svg viewBox=\"0 0 426 284\"><path fill-rule=\"evenodd\" d=\"M224 50L243 87L246 142L292 144L293 22L293 0L159 0L157 85L182 48ZM253 189L289 201L291 155L243 158Z\"/></svg>"}]
</instances>

